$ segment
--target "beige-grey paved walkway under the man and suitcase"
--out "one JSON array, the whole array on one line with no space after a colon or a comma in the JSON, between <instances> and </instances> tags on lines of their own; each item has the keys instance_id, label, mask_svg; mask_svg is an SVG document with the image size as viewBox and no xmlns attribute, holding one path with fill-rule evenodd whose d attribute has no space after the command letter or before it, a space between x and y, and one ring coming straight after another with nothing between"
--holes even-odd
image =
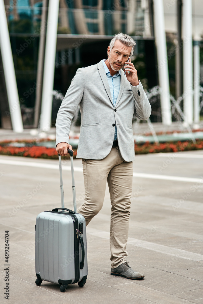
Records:
<instances>
[{"instance_id":1,"label":"beige-grey paved walkway under the man and suitcase","mask_svg":"<svg viewBox=\"0 0 203 304\"><path fill-rule=\"evenodd\" d=\"M178 155L178 156L177 156ZM80 159L76 196L83 202ZM0 156L0 284L5 286L5 231L9 230L9 303L203 303L203 151L137 155L128 261L141 281L110 275L110 199L87 227L88 279L83 288L35 285L34 236L38 213L60 206L58 161ZM160 177L161 175L161 177ZM64 164L65 206L72 208L70 162ZM163 177L163 178L162 178Z\"/></svg>"}]
</instances>

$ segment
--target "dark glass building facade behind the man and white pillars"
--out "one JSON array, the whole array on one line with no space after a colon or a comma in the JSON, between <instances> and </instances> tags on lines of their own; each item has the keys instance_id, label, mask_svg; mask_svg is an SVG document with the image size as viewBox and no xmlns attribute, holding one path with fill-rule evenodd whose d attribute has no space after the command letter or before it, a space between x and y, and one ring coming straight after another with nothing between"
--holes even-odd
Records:
<instances>
[{"instance_id":1,"label":"dark glass building facade behind the man and white pillars","mask_svg":"<svg viewBox=\"0 0 203 304\"><path fill-rule=\"evenodd\" d=\"M175 49L175 5L164 2L168 54ZM165 3L166 2L166 3ZM24 128L37 127L40 115L48 0L4 0ZM197 17L198 18L198 17ZM201 29L201 26L199 26ZM145 89L158 85L152 0L60 0L54 90L65 95L76 70L107 58L116 33L136 40L131 61ZM201 48L202 50L202 48ZM175 53L174 53L175 54ZM201 51L201 61L202 61ZM175 56L168 60L170 91L175 96ZM201 68L202 69L202 68ZM202 73L202 72L201 72ZM60 102L59 102L60 104ZM52 126L58 104L53 104ZM12 128L0 54L0 127ZM152 104L151 120L161 121Z\"/></svg>"}]
</instances>

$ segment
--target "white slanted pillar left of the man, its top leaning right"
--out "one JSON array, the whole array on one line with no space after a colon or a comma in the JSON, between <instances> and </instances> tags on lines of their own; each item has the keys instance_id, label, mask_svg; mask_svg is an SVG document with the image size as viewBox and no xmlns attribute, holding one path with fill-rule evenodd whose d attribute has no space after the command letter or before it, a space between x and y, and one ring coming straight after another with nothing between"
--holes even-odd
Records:
<instances>
[{"instance_id":1,"label":"white slanted pillar left of the man, its top leaning right","mask_svg":"<svg viewBox=\"0 0 203 304\"><path fill-rule=\"evenodd\" d=\"M49 0L42 88L42 107L40 115L40 129L45 132L51 128L51 111L53 98L52 91L54 86L58 11L59 0Z\"/></svg>"}]
</instances>

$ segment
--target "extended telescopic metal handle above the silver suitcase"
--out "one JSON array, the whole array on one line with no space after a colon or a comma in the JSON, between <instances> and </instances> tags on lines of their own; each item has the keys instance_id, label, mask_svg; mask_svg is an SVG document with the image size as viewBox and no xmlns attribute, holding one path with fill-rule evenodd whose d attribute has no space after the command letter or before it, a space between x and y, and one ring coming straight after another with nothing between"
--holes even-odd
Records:
<instances>
[{"instance_id":1,"label":"extended telescopic metal handle above the silver suitcase","mask_svg":"<svg viewBox=\"0 0 203 304\"><path fill-rule=\"evenodd\" d=\"M75 193L75 178L74 178L74 170L73 170L73 151L68 149L68 153L70 154L71 159L71 175L72 175L72 192L73 192L73 208L74 212L77 213L76 206L76 193ZM61 206L64 208L64 193L63 193L63 178L62 178L62 167L61 167L61 155L58 154L59 160L59 172L60 172L60 187L61 187Z\"/></svg>"}]
</instances>

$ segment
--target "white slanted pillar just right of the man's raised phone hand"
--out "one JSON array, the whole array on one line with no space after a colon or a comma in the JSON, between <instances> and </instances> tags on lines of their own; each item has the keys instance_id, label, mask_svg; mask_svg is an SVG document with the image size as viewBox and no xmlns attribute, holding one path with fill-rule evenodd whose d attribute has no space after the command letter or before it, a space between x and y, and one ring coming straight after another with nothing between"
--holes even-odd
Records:
<instances>
[{"instance_id":1,"label":"white slanted pillar just right of the man's raised phone hand","mask_svg":"<svg viewBox=\"0 0 203 304\"><path fill-rule=\"evenodd\" d=\"M164 125L171 124L170 87L163 0L154 0L154 32L157 51L157 69L161 88L161 114Z\"/></svg>"}]
</instances>

